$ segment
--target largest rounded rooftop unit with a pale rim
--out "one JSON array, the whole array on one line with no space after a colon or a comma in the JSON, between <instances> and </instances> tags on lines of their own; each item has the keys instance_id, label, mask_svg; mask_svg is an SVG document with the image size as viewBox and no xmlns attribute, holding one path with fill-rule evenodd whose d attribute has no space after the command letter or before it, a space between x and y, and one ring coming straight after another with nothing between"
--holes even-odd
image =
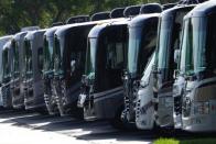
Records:
<instances>
[{"instance_id":1,"label":"largest rounded rooftop unit with a pale rim","mask_svg":"<svg viewBox=\"0 0 216 144\"><path fill-rule=\"evenodd\" d=\"M140 14L161 13L161 12L162 12L162 8L161 8L161 4L159 3L143 4L140 8Z\"/></svg>"}]
</instances>

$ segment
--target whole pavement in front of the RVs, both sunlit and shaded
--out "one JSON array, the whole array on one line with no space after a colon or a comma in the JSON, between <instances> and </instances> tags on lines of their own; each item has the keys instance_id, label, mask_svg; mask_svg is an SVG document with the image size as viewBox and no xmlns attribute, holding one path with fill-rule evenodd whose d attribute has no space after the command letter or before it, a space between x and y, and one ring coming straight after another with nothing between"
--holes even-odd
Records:
<instances>
[{"instance_id":1,"label":"whole pavement in front of the RVs, both sunlit and shaded","mask_svg":"<svg viewBox=\"0 0 216 144\"><path fill-rule=\"evenodd\" d=\"M86 122L72 117L0 109L0 144L150 144L159 137L190 140L215 137L215 133L120 131L106 121Z\"/></svg>"}]
</instances>

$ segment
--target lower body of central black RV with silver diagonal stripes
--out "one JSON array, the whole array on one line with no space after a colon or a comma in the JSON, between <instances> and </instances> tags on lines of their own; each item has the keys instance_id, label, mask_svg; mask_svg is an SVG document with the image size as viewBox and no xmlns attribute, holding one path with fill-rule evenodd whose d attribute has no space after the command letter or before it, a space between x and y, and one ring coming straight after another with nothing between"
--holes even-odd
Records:
<instances>
[{"instance_id":1,"label":"lower body of central black RV with silver diagonal stripes","mask_svg":"<svg viewBox=\"0 0 216 144\"><path fill-rule=\"evenodd\" d=\"M85 120L115 119L123 106L123 88L118 87L87 98L84 106Z\"/></svg>"}]
</instances>

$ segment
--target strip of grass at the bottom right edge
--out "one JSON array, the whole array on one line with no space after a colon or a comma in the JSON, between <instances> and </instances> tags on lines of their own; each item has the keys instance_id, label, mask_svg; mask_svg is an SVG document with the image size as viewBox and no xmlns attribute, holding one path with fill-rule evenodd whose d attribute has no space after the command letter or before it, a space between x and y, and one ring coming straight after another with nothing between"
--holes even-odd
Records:
<instances>
[{"instance_id":1,"label":"strip of grass at the bottom right edge","mask_svg":"<svg viewBox=\"0 0 216 144\"><path fill-rule=\"evenodd\" d=\"M159 139L153 144L216 144L215 139L191 139L191 140L175 140L175 139Z\"/></svg>"}]
</instances>

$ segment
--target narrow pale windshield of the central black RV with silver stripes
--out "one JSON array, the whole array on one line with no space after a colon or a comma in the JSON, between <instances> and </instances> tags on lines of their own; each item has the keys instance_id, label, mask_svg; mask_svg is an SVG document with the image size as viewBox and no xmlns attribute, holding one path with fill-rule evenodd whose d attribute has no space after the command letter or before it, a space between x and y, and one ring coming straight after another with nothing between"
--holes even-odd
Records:
<instances>
[{"instance_id":1,"label":"narrow pale windshield of the central black RV with silver stripes","mask_svg":"<svg viewBox=\"0 0 216 144\"><path fill-rule=\"evenodd\" d=\"M87 48L87 58L86 58L86 75L94 75L95 74L95 66L96 66L96 49L97 49L97 38L90 37L88 38L88 48Z\"/></svg>"}]
</instances>

